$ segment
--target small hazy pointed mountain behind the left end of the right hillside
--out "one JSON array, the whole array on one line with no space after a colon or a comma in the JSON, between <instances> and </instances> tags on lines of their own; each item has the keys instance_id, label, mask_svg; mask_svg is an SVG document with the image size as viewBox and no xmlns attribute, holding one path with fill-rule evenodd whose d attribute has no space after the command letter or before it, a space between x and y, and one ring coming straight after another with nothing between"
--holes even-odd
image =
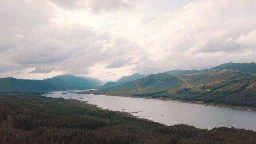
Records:
<instances>
[{"instance_id":1,"label":"small hazy pointed mountain behind the left end of the right hillside","mask_svg":"<svg viewBox=\"0 0 256 144\"><path fill-rule=\"evenodd\" d=\"M130 82L130 81L133 81L133 80L141 79L143 77L144 77L144 75L140 75L138 73L135 73L135 74L133 74L131 76L123 76L119 80L117 80L116 82L110 81L110 82L104 84L103 86L101 86L100 88L101 89L112 88L112 87L115 87L115 86L118 86L118 85Z\"/></svg>"}]
</instances>

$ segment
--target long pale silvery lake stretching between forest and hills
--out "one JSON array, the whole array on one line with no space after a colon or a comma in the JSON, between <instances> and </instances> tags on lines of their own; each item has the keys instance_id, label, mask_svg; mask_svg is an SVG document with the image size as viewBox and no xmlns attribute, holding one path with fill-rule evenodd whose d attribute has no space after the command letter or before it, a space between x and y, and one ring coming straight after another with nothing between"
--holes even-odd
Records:
<instances>
[{"instance_id":1,"label":"long pale silvery lake stretching between forest and hills","mask_svg":"<svg viewBox=\"0 0 256 144\"><path fill-rule=\"evenodd\" d=\"M203 129L224 126L256 131L256 111L120 96L74 93L62 95L64 92L45 96L87 101L86 103L96 104L103 109L129 112L134 116L167 125L188 124Z\"/></svg>"}]
</instances>

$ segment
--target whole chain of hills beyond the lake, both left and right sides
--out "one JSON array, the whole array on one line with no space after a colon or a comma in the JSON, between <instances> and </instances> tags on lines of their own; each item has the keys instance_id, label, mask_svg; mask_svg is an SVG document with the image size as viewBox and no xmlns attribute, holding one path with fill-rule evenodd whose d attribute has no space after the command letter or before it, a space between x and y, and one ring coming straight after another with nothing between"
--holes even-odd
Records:
<instances>
[{"instance_id":1,"label":"whole chain of hills beyond the lake, both left and right sides","mask_svg":"<svg viewBox=\"0 0 256 144\"><path fill-rule=\"evenodd\" d=\"M227 63L203 70L138 73L116 82L62 75L45 80L0 78L0 92L49 92L99 89L80 93L203 101L256 108L256 63Z\"/></svg>"}]
</instances>

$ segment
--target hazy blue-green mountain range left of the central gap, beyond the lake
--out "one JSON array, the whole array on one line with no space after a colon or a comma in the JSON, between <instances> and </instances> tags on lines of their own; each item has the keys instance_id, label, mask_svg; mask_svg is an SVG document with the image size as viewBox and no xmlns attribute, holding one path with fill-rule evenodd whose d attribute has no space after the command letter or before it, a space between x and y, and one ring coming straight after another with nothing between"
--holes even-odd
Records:
<instances>
[{"instance_id":1,"label":"hazy blue-green mountain range left of the central gap, beyond the lake","mask_svg":"<svg viewBox=\"0 0 256 144\"><path fill-rule=\"evenodd\" d=\"M49 92L96 88L100 88L99 81L72 75L54 76L45 80L0 78L0 92Z\"/></svg>"}]
</instances>

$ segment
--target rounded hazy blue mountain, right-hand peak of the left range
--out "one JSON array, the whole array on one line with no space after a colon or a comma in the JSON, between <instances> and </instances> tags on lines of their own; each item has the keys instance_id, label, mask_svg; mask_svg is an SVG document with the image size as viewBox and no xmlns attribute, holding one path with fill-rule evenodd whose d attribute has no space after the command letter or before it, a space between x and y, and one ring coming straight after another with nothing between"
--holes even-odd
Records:
<instances>
[{"instance_id":1,"label":"rounded hazy blue mountain, right-hand peak of the left range","mask_svg":"<svg viewBox=\"0 0 256 144\"><path fill-rule=\"evenodd\" d=\"M54 76L44 81L58 86L61 90L95 89L99 88L95 81L72 75Z\"/></svg>"}]
</instances>

